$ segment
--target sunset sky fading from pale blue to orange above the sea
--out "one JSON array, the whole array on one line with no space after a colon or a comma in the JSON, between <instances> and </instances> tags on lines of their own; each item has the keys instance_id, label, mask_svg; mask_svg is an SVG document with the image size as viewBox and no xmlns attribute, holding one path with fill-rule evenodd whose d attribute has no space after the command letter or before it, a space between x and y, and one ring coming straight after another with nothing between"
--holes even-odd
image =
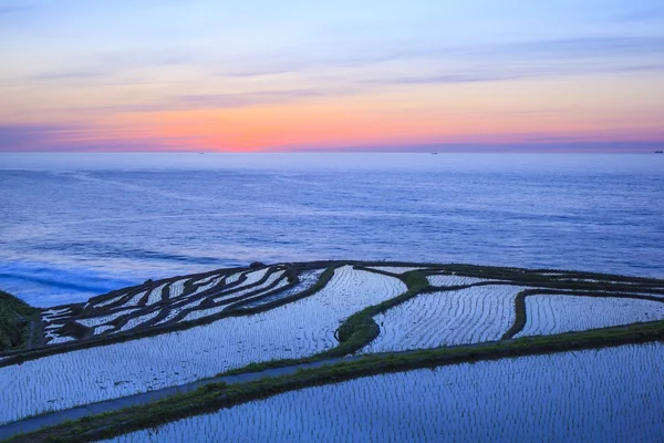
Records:
<instances>
[{"instance_id":1,"label":"sunset sky fading from pale blue to orange above the sea","mask_svg":"<svg viewBox=\"0 0 664 443\"><path fill-rule=\"evenodd\" d=\"M662 0L0 0L0 152L652 152Z\"/></svg>"}]
</instances>

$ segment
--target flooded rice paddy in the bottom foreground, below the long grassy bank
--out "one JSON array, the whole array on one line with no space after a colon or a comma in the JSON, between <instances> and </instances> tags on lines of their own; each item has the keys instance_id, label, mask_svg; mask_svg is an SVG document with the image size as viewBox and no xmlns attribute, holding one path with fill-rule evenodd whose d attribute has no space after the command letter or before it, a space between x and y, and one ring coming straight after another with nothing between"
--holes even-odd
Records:
<instances>
[{"instance_id":1,"label":"flooded rice paddy in the bottom foreground, below the long grassy bank","mask_svg":"<svg viewBox=\"0 0 664 443\"><path fill-rule=\"evenodd\" d=\"M382 374L106 442L657 442L664 344ZM631 405L631 406L626 406Z\"/></svg>"}]
</instances>

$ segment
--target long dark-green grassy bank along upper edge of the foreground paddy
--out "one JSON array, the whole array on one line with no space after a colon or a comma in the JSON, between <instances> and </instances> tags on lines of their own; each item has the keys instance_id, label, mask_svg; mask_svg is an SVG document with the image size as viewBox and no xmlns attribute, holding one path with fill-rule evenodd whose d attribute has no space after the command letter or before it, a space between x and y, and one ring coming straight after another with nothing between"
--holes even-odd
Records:
<instances>
[{"instance_id":1,"label":"long dark-green grassy bank along upper edge of the foreground paddy","mask_svg":"<svg viewBox=\"0 0 664 443\"><path fill-rule=\"evenodd\" d=\"M655 321L635 323L629 327L520 338L456 348L364 356L353 361L303 369L288 375L266 377L246 383L209 383L190 393L173 395L146 405L85 416L77 421L64 422L37 432L15 435L8 441L89 442L155 427L175 420L231 408L287 391L338 383L381 373L483 360L618 347L662 341L663 339L664 321ZM250 365L242 371L234 371L234 373L240 372L255 372L255 367Z\"/></svg>"}]
</instances>

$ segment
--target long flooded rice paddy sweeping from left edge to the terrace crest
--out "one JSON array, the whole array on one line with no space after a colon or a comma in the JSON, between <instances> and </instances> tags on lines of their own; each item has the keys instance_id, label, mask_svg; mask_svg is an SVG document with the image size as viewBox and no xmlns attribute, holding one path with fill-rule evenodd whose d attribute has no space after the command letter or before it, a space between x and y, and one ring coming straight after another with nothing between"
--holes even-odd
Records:
<instances>
[{"instance_id":1,"label":"long flooded rice paddy sweeping from left edge to the terrace crest","mask_svg":"<svg viewBox=\"0 0 664 443\"><path fill-rule=\"evenodd\" d=\"M18 370L0 368L0 423L183 384L250 362L311 356L338 344L334 332L343 319L405 290L396 278L344 266L314 295L266 312L56 353Z\"/></svg>"}]
</instances>

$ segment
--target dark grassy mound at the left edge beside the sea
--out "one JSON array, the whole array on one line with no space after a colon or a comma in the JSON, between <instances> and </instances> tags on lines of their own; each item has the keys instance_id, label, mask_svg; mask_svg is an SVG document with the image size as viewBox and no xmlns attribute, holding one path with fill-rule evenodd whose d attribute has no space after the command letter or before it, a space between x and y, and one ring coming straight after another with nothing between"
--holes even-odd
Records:
<instances>
[{"instance_id":1,"label":"dark grassy mound at the left edge beside the sea","mask_svg":"<svg viewBox=\"0 0 664 443\"><path fill-rule=\"evenodd\" d=\"M30 322L39 309L0 290L0 352L22 349L30 341Z\"/></svg>"}]
</instances>

